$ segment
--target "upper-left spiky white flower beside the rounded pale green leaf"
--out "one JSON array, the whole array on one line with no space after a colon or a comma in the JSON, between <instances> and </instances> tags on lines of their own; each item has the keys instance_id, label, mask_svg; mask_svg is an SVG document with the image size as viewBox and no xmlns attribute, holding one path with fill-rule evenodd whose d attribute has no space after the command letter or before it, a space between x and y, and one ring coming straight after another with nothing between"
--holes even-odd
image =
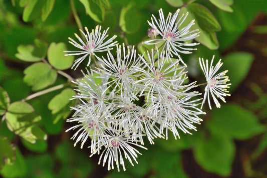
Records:
<instances>
[{"instance_id":1,"label":"upper-left spiky white flower beside the rounded pale green leaf","mask_svg":"<svg viewBox=\"0 0 267 178\"><path fill-rule=\"evenodd\" d=\"M103 51L109 51L112 50L111 47L115 46L117 44L116 42L113 42L113 40L117 37L114 35L112 38L108 39L107 41L104 42L104 40L108 37L107 35L107 30L104 30L103 33L101 34L101 26L96 26L95 30L92 30L91 33L88 32L87 27L85 27L86 34L80 29L82 32L83 36L86 39L86 42L83 41L77 34L75 34L76 38L79 40L80 44L77 43L75 40L72 38L69 38L70 43L79 48L79 51L64 51L70 54L66 54L65 56L71 56L71 55L83 55L82 57L78 58L75 60L75 63L73 64L72 68L75 69L79 66L81 62L89 55L89 61L87 66L90 65L91 63L91 55L98 56L95 54L97 52L103 52ZM75 70L74 69L74 70Z\"/></svg>"}]
</instances>

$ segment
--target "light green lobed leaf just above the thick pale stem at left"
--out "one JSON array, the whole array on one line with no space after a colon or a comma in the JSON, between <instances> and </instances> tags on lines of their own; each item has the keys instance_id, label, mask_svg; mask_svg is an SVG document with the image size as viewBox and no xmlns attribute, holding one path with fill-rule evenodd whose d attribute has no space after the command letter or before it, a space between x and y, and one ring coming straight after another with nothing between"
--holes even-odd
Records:
<instances>
[{"instance_id":1,"label":"light green lobed leaf just above the thick pale stem at left","mask_svg":"<svg viewBox=\"0 0 267 178\"><path fill-rule=\"evenodd\" d=\"M50 65L44 63L35 63L24 70L25 77L23 81L30 86L33 86L34 91L41 90L49 85L52 85L57 79L56 70Z\"/></svg>"}]
</instances>

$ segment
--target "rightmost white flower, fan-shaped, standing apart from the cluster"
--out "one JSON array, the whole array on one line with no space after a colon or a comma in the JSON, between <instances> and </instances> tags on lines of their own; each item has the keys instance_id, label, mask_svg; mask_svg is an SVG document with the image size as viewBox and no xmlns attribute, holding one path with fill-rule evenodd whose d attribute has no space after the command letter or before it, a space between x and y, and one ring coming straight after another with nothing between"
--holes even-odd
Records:
<instances>
[{"instance_id":1,"label":"rightmost white flower, fan-shaped, standing apart from the cluster","mask_svg":"<svg viewBox=\"0 0 267 178\"><path fill-rule=\"evenodd\" d=\"M202 71L204 72L204 75L207 81L207 85L205 87L204 99L202 101L201 108L207 98L209 108L211 109L209 94L211 94L212 99L214 103L216 104L217 108L220 107L220 103L217 100L217 98L220 98L223 102L225 102L223 96L230 96L230 94L228 94L229 91L227 91L227 88L229 88L229 85L231 84L230 83L226 84L226 82L230 80L228 79L228 76L225 76L228 70L216 74L216 72L219 70L219 68L222 66L223 63L220 62L221 61L220 59L219 62L214 67L212 66L213 59L214 59L214 55L212 57L210 67L208 67L208 60L206 60L206 65L205 65L204 59L202 58L202 62L201 62L201 59L199 58L200 67Z\"/></svg>"}]
</instances>

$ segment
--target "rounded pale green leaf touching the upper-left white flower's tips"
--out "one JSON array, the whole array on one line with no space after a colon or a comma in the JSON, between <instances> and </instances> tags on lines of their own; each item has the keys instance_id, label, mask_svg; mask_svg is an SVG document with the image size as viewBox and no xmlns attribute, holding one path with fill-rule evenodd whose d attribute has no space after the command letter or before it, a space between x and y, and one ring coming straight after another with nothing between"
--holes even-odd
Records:
<instances>
[{"instance_id":1,"label":"rounded pale green leaf touching the upper-left white flower's tips","mask_svg":"<svg viewBox=\"0 0 267 178\"><path fill-rule=\"evenodd\" d=\"M58 70L69 69L74 60L74 56L64 56L67 47L64 43L51 43L48 49L48 61Z\"/></svg>"}]
</instances>

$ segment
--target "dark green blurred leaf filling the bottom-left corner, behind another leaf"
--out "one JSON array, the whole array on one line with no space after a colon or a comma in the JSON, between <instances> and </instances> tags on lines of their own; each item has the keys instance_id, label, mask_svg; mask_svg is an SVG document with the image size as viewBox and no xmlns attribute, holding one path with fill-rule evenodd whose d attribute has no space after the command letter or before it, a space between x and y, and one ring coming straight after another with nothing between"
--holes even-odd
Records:
<instances>
[{"instance_id":1,"label":"dark green blurred leaf filling the bottom-left corner, behind another leaf","mask_svg":"<svg viewBox=\"0 0 267 178\"><path fill-rule=\"evenodd\" d=\"M22 153L16 147L16 161L14 164L5 164L4 168L0 171L3 177L25 177L27 173L27 166Z\"/></svg>"}]
</instances>

